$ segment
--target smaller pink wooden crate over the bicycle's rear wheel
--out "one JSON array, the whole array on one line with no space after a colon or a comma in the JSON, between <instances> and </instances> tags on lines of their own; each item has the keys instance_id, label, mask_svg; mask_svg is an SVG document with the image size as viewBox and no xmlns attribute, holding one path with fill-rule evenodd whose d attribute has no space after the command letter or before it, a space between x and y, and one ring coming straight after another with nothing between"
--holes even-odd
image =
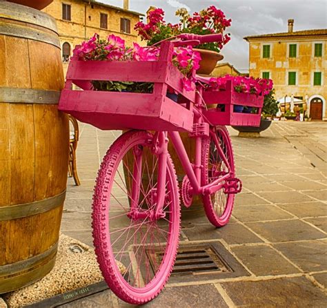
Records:
<instances>
[{"instance_id":1,"label":"smaller pink wooden crate over the bicycle's rear wheel","mask_svg":"<svg viewBox=\"0 0 327 308\"><path fill-rule=\"evenodd\" d=\"M227 81L226 90L206 90L203 93L206 104L219 104L220 110L210 108L204 116L212 125L259 126L264 96L249 93L237 93L232 81ZM237 107L234 107L237 105ZM257 108L257 113L235 112L238 106Z\"/></svg>"}]
</instances>

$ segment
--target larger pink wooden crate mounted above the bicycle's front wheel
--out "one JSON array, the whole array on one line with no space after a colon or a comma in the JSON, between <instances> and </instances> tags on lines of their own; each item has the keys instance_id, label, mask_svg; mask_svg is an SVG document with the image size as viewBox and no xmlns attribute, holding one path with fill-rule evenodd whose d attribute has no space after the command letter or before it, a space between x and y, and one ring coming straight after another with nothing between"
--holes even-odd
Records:
<instances>
[{"instance_id":1,"label":"larger pink wooden crate mounted above the bicycle's front wheel","mask_svg":"<svg viewBox=\"0 0 327 308\"><path fill-rule=\"evenodd\" d=\"M172 48L171 43L162 44L159 61L80 61L72 57L59 110L103 130L192 131L195 93L184 90L183 75L168 61ZM154 89L152 93L96 91L91 89L92 80L153 82ZM72 84L83 90L72 90ZM168 88L188 104L173 102L166 96Z\"/></svg>"}]
</instances>

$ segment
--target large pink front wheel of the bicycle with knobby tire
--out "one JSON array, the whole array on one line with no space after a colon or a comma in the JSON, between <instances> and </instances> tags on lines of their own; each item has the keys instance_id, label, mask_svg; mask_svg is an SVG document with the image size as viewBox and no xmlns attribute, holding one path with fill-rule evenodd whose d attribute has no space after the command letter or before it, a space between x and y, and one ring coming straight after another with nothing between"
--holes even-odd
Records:
<instances>
[{"instance_id":1,"label":"large pink front wheel of the bicycle with knobby tire","mask_svg":"<svg viewBox=\"0 0 327 308\"><path fill-rule=\"evenodd\" d=\"M152 300L164 287L179 241L178 184L169 155L164 215L153 217L159 157L151 150L152 139L146 131L121 135L103 158L93 196L99 267L110 289L136 305Z\"/></svg>"}]
</instances>

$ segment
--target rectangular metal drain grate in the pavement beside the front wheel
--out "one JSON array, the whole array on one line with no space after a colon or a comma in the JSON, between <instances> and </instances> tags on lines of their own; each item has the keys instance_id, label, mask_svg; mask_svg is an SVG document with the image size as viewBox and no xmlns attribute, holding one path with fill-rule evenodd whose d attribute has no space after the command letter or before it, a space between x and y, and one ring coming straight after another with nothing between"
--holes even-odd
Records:
<instances>
[{"instance_id":1,"label":"rectangular metal drain grate in the pavement beside the front wheel","mask_svg":"<svg viewBox=\"0 0 327 308\"><path fill-rule=\"evenodd\" d=\"M162 260L159 251L146 251L152 268ZM169 282L185 282L203 279L232 278L250 274L232 256L221 242L194 243L179 245L175 266ZM199 277L201 276L201 277Z\"/></svg>"}]
</instances>

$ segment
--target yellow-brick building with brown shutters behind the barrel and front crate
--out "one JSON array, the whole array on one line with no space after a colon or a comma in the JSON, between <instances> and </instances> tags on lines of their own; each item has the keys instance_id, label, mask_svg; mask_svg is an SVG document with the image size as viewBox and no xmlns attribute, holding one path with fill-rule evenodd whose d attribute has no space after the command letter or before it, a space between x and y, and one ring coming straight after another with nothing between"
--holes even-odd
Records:
<instances>
[{"instance_id":1,"label":"yellow-brick building with brown shutters behind the barrel and front crate","mask_svg":"<svg viewBox=\"0 0 327 308\"><path fill-rule=\"evenodd\" d=\"M118 35L126 41L126 46L132 46L133 42L138 41L135 23L143 16L128 10L128 0L123 1L123 8L99 1L54 0L43 12L57 21L65 75L69 57L76 45L97 33L102 38L110 34Z\"/></svg>"}]
</instances>

